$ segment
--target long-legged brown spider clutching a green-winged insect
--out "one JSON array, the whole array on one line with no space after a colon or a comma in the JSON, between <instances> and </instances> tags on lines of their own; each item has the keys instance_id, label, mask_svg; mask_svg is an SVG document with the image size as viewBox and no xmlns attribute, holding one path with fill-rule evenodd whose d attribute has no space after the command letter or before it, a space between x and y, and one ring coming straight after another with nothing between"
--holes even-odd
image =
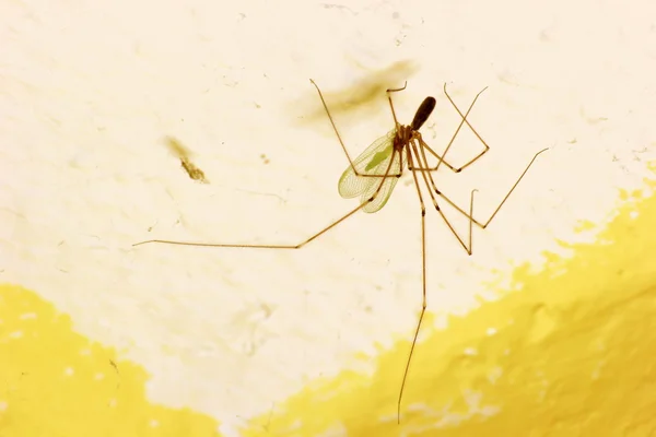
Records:
<instances>
[{"instance_id":1,"label":"long-legged brown spider clutching a green-winged insect","mask_svg":"<svg viewBox=\"0 0 656 437\"><path fill-rule=\"evenodd\" d=\"M465 168L469 167L476 161L478 161L481 156L483 156L489 150L490 146L488 143L481 138L481 135L476 131L476 129L469 123L467 120L467 116L471 111L471 108L476 104L479 96L487 90L483 88L479 92L469 108L465 114L458 108L452 97L448 95L446 91L446 83L444 84L444 94L448 98L452 106L460 116L461 120L455 130L454 134L450 138L450 141L446 145L446 149L438 155L435 151L433 151L422 139L419 129L424 125L427 120L429 116L432 114L435 108L435 98L426 97L422 104L419 106L414 118L410 125L401 125L398 122L396 113L394 109L394 104L391 102L391 94L403 91L406 85L400 88L389 88L387 90L387 99L389 102L389 108L391 109L391 116L394 118L394 128L387 132L385 135L378 138L374 141L360 156L355 160L351 158L344 142L339 134L337 126L335 125L335 120L330 115L330 110L328 109L328 105L324 99L324 95L319 90L318 85L311 79L312 84L316 87L317 93L319 94L319 98L321 99L321 104L328 116L330 125L337 135L337 139L349 161L349 167L344 170L341 178L339 179L339 193L342 198L351 199L360 197L360 203L356 208L349 211L347 214L336 220L328 226L324 227L319 232L313 234L308 238L302 240L298 244L294 245L248 245L248 244L223 244L223 243L194 243L194 241L175 241L175 240L163 240L163 239L152 239L148 241L137 243L133 246L144 245L149 243L160 243L160 244L168 244L168 245L181 245L181 246L200 246L200 247L223 247L223 248L253 248L253 249L301 249L305 247L311 241L319 238L321 235L326 234L328 231L332 229L340 223L344 222L347 218L355 214L358 211L364 211L366 213L374 213L379 211L391 196L394 188L398 181L398 179L403 175L403 170L407 169L412 174L412 179L414 181L414 187L417 189L417 194L419 198L419 203L421 206L421 255L422 255L422 304L421 310L419 314L419 318L417 321L417 327L414 329L414 335L412 338L412 344L410 346L410 352L408 354L408 359L406 362L406 367L403 369L403 376L401 379L401 385L399 389L399 394L397 399L397 421L400 423L401 416L401 401L403 398L403 391L406 388L406 381L408 379L408 371L410 369L410 363L412 361L412 354L414 353L414 349L417 345L417 339L419 336L419 332L421 329L421 323L423 321L427 302L426 302L426 245L425 245L425 202L424 196L422 193L422 185L430 198L431 203L435 208L436 212L443 218L444 223L446 223L450 233L456 237L460 246L465 249L468 255L472 253L472 245L471 245L471 233L472 226L476 225L482 229L487 228L488 225L492 222L492 220L496 216L503 204L507 201L512 192L515 190L517 185L532 163L536 161L538 155L548 149L543 149L536 153L524 172L516 179L515 184L507 191L505 197L499 203L496 209L492 212L492 215L487 221L479 221L473 217L473 194L477 191L476 189L471 191L470 201L469 201L469 212L466 212L464 209L458 206L454 201L452 201L444 192L442 192L433 179L433 173L437 172L442 165L447 167L449 170L454 173L460 173ZM446 154L450 149L454 140L456 139L458 132L462 128L464 125L475 133L475 135L480 140L483 144L483 150L476 155L472 160L467 162L460 167L455 167L446 161ZM427 161L427 156L431 155L433 158L437 160L437 163L434 166L431 166ZM444 200L446 203L452 205L460 215L466 217L469 221L469 236L467 241L462 238L454 228L448 218L444 215L440 203L437 200Z\"/></svg>"}]
</instances>

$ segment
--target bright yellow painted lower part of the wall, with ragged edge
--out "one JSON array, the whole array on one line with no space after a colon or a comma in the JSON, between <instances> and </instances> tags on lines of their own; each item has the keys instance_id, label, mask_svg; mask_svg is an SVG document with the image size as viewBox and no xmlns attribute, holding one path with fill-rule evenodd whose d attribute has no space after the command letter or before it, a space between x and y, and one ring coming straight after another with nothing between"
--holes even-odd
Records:
<instances>
[{"instance_id":1,"label":"bright yellow painted lower part of the wall, with ragged edge","mask_svg":"<svg viewBox=\"0 0 656 437\"><path fill-rule=\"evenodd\" d=\"M373 376L311 381L244 436L648 436L656 429L656 180L628 201L597 244L519 268L504 293L420 344L396 424L408 342ZM561 272L557 274L554 272ZM0 288L0 435L211 436L218 423L152 403L148 373L71 329L32 291Z\"/></svg>"}]
</instances>

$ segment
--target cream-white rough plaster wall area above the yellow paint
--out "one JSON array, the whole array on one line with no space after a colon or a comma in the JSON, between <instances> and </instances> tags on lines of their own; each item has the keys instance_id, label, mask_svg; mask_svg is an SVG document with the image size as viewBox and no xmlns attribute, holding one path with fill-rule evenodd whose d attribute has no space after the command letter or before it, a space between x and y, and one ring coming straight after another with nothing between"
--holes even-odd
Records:
<instances>
[{"instance_id":1,"label":"cream-white rough plaster wall area above the yellow paint","mask_svg":"<svg viewBox=\"0 0 656 437\"><path fill-rule=\"evenodd\" d=\"M475 231L471 257L429 210L427 336L431 326L448 327L449 315L523 291L515 268L528 262L539 272L554 257L575 256L559 241L605 244L598 233L618 214L620 190L645 188L656 154L653 9L647 1L630 9L5 2L2 282L34 291L75 332L142 366L151 402L189 408L238 435L316 378L375 374L375 359L358 354L376 356L410 338L421 303L411 178L380 212L355 214L300 251L132 244L295 244L355 208L337 193L348 162L311 78L352 155L393 127L383 93L358 97L356 111L344 106L349 93L340 90L354 93L362 78L375 90L408 81L395 95L402 122L435 96L423 134L437 150L459 121L443 84L461 108L489 86L470 122L491 150L462 174L441 172L440 187L461 205L478 188L476 213L485 217L531 156L550 150L490 228ZM209 184L189 178L166 137L192 152ZM465 131L450 156L466 162L479 147ZM466 221L447 214L466 232ZM360 416L395 414L408 349L403 342L385 374L389 395L362 405Z\"/></svg>"}]
</instances>

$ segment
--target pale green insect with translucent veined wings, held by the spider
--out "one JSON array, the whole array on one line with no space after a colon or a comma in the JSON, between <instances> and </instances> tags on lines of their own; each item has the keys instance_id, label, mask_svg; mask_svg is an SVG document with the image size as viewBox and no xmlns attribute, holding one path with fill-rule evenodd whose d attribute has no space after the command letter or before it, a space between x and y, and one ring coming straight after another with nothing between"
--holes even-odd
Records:
<instances>
[{"instance_id":1,"label":"pale green insect with translucent veined wings, held by the spider","mask_svg":"<svg viewBox=\"0 0 656 437\"><path fill-rule=\"evenodd\" d=\"M385 175L390 160L394 160L388 175L398 175L401 170L401 158L394 153L394 138L396 129L390 130L372 143L360 156L353 161L353 166L361 175ZM383 181L385 179L385 181ZM380 191L373 202L363 208L363 211L373 213L380 210L387 203L391 191L396 186L396 177L361 177L349 166L339 179L339 193L342 198L350 199L360 196L361 202L370 199L378 186L383 184Z\"/></svg>"}]
</instances>

